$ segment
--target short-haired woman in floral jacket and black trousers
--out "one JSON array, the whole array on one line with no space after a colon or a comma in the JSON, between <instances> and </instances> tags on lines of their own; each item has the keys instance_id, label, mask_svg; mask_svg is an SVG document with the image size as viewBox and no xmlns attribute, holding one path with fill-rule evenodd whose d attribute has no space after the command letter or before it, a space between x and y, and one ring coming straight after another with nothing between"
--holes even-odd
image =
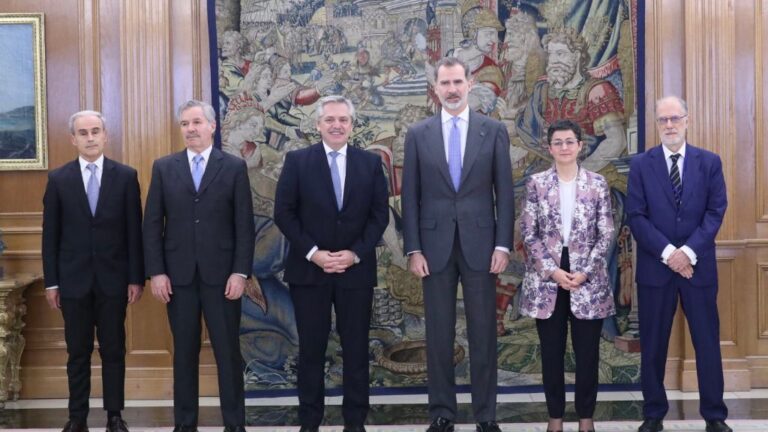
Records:
<instances>
[{"instance_id":1,"label":"short-haired woman in floral jacket and black trousers","mask_svg":"<svg viewBox=\"0 0 768 432\"><path fill-rule=\"evenodd\" d=\"M593 431L600 330L615 313L606 258L614 232L610 191L603 176L579 167L584 143L576 123L554 122L547 141L554 164L528 180L520 218L527 254L520 309L536 318L547 430L563 429L570 322L579 430Z\"/></svg>"}]
</instances>

